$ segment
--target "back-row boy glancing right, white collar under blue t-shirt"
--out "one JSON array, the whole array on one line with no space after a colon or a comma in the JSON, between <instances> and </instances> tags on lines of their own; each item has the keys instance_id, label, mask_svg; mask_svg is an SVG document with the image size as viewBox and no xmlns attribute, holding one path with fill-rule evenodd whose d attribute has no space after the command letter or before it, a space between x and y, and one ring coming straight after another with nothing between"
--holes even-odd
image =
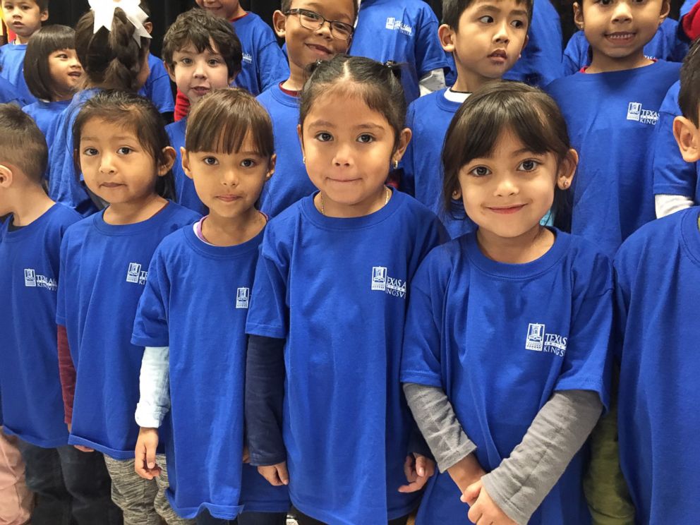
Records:
<instances>
[{"instance_id":1,"label":"back-row boy glancing right, white collar under blue t-shirt","mask_svg":"<svg viewBox=\"0 0 700 525\"><path fill-rule=\"evenodd\" d=\"M438 35L445 52L454 56L457 81L411 102L407 125L413 132L402 161L399 189L406 191L442 219L451 237L471 231L470 220L453 205L442 212L442 144L449 121L469 94L500 80L518 60L527 42L531 0L507 0L493 6L486 0L446 0Z\"/></svg>"}]
</instances>

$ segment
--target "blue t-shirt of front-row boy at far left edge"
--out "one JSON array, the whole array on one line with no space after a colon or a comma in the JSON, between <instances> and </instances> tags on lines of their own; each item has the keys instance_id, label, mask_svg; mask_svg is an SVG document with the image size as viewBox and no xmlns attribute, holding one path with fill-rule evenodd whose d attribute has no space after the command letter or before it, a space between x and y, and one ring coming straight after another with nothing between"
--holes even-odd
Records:
<instances>
[{"instance_id":1,"label":"blue t-shirt of front-row boy at far left edge","mask_svg":"<svg viewBox=\"0 0 700 525\"><path fill-rule=\"evenodd\" d=\"M59 251L80 219L56 204L31 224L0 231L0 385L5 433L37 447L68 443L56 346Z\"/></svg>"}]
</instances>

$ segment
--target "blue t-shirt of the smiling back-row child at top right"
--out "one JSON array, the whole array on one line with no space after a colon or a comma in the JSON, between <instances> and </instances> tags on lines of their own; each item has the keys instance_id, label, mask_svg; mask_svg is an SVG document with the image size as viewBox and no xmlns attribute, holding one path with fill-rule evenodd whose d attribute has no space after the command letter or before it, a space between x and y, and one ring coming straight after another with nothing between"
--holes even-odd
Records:
<instances>
[{"instance_id":1,"label":"blue t-shirt of the smiling back-row child at top right","mask_svg":"<svg viewBox=\"0 0 700 525\"><path fill-rule=\"evenodd\" d=\"M579 167L572 185L572 233L608 256L656 218L653 133L680 64L658 61L610 73L576 73L548 85L567 121Z\"/></svg>"}]
</instances>

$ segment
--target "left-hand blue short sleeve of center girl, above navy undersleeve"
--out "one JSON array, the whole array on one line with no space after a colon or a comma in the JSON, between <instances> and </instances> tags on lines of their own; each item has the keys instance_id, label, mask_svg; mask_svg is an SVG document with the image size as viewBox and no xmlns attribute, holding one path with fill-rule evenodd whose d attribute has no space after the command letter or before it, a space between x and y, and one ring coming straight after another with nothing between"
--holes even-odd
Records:
<instances>
[{"instance_id":1,"label":"left-hand blue short sleeve of center girl, above navy undersleeve","mask_svg":"<svg viewBox=\"0 0 700 525\"><path fill-rule=\"evenodd\" d=\"M260 259L255 268L246 333L286 339L289 332L289 261L280 253L280 248L274 246L270 234L270 229L265 231L263 244L260 246Z\"/></svg>"}]
</instances>

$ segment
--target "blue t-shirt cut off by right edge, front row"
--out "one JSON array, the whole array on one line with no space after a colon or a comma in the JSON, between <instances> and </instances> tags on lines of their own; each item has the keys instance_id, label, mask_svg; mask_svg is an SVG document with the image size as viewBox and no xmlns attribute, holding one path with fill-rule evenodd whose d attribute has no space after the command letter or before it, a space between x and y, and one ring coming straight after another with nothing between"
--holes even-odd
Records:
<instances>
[{"instance_id":1,"label":"blue t-shirt cut off by right edge, front row","mask_svg":"<svg viewBox=\"0 0 700 525\"><path fill-rule=\"evenodd\" d=\"M699 208L647 224L615 257L620 466L638 524L696 524ZM689 497L679 497L679 495Z\"/></svg>"}]
</instances>

